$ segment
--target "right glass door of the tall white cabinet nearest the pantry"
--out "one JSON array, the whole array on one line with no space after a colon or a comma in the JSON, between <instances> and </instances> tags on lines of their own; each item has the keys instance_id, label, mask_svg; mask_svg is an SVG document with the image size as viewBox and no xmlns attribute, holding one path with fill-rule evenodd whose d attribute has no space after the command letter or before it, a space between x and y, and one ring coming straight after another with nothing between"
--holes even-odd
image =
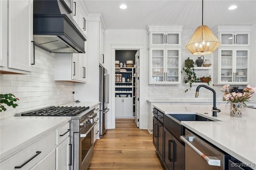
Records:
<instances>
[{"instance_id":1,"label":"right glass door of the tall white cabinet nearest the pantry","mask_svg":"<svg viewBox=\"0 0 256 170\"><path fill-rule=\"evenodd\" d=\"M179 81L179 50L166 49L166 81L177 83Z\"/></svg>"}]
</instances>

